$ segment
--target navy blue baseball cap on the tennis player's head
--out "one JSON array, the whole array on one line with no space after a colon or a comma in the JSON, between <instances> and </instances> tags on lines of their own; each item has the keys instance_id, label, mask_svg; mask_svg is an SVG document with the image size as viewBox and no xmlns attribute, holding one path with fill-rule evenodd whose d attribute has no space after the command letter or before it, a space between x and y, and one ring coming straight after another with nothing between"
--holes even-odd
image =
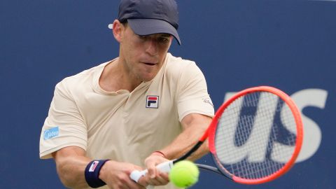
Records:
<instances>
[{"instance_id":1,"label":"navy blue baseball cap on the tennis player's head","mask_svg":"<svg viewBox=\"0 0 336 189\"><path fill-rule=\"evenodd\" d=\"M181 45L175 0L121 0L118 20L128 22L135 34L171 34Z\"/></svg>"}]
</instances>

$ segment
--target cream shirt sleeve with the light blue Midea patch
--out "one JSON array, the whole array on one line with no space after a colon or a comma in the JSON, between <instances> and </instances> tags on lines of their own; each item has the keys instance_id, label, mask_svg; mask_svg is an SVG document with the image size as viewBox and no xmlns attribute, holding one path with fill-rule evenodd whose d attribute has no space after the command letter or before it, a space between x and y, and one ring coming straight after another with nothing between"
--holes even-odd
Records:
<instances>
[{"instance_id":1,"label":"cream shirt sleeve with the light blue Midea patch","mask_svg":"<svg viewBox=\"0 0 336 189\"><path fill-rule=\"evenodd\" d=\"M65 81L55 87L48 117L40 137L40 158L52 158L51 153L66 146L87 148L87 127Z\"/></svg>"}]
</instances>

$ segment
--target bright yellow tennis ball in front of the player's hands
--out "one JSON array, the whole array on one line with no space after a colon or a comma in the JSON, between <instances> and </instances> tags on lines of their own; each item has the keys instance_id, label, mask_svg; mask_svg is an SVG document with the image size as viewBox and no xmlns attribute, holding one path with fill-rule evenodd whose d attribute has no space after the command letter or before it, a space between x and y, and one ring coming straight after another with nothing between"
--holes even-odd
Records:
<instances>
[{"instance_id":1,"label":"bright yellow tennis ball in front of the player's hands","mask_svg":"<svg viewBox=\"0 0 336 189\"><path fill-rule=\"evenodd\" d=\"M179 188L193 186L198 181L200 171L195 163L188 160L176 162L169 172L169 180Z\"/></svg>"}]
</instances>

